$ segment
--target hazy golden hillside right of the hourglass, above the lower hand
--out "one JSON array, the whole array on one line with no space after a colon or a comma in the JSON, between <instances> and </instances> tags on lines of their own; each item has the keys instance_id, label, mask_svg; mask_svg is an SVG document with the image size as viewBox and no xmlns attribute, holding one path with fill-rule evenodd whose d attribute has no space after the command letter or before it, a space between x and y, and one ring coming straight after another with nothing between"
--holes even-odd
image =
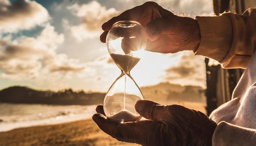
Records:
<instances>
[{"instance_id":1,"label":"hazy golden hillside right of the hourglass, above the lower hand","mask_svg":"<svg viewBox=\"0 0 256 146\"><path fill-rule=\"evenodd\" d=\"M165 82L140 89L145 100L163 104L171 104L172 102L206 103L205 90L199 86L181 86Z\"/></svg>"}]
</instances>

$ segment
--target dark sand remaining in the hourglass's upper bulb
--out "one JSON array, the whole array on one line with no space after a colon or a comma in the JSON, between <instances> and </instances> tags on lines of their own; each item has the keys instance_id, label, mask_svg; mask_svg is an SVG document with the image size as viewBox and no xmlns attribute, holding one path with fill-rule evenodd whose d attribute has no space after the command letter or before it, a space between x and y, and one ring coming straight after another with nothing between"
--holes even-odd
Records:
<instances>
[{"instance_id":1,"label":"dark sand remaining in the hourglass's upper bulb","mask_svg":"<svg viewBox=\"0 0 256 146\"><path fill-rule=\"evenodd\" d=\"M121 55L115 53L111 53L110 56L117 66L125 73L130 71L140 60L140 58L135 58L130 55Z\"/></svg>"}]
</instances>

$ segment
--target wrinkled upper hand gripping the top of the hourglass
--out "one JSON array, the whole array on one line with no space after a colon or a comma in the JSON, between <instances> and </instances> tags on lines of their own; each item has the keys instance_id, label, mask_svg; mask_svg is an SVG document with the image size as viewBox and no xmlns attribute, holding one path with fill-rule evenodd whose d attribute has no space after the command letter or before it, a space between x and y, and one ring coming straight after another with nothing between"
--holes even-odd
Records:
<instances>
[{"instance_id":1,"label":"wrinkled upper hand gripping the top of the hourglass","mask_svg":"<svg viewBox=\"0 0 256 146\"><path fill-rule=\"evenodd\" d=\"M121 20L134 20L145 28L149 40L146 46L148 51L159 53L195 51L200 43L200 30L196 20L173 15L155 2L146 2L105 22L102 25L104 32L100 37L101 42L106 42L106 35L112 25Z\"/></svg>"}]
</instances>

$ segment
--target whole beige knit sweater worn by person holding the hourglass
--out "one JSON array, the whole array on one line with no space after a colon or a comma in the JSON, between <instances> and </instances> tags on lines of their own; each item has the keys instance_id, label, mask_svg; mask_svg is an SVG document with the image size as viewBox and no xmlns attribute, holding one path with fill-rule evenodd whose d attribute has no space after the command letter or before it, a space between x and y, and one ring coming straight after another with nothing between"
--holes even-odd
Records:
<instances>
[{"instance_id":1,"label":"whole beige knit sweater worn by person holding the hourglass","mask_svg":"<svg viewBox=\"0 0 256 146\"><path fill-rule=\"evenodd\" d=\"M256 145L256 9L196 19L201 42L195 55L213 58L225 68L246 69L231 101L210 115L218 123L212 145Z\"/></svg>"}]
</instances>

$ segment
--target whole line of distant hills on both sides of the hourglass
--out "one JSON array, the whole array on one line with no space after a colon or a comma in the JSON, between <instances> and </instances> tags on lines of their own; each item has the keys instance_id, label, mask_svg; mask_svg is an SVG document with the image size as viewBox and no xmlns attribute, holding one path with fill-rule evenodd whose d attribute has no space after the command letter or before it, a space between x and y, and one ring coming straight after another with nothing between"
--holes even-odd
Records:
<instances>
[{"instance_id":1,"label":"whole line of distant hills on both sides of the hourglass","mask_svg":"<svg viewBox=\"0 0 256 146\"><path fill-rule=\"evenodd\" d=\"M198 86L181 86L160 83L154 86L141 87L145 100L160 104L172 102L206 102L204 89ZM0 91L0 102L26 104L60 104L60 105L92 105L103 104L106 93L64 91L37 91L24 86L12 86Z\"/></svg>"}]
</instances>

